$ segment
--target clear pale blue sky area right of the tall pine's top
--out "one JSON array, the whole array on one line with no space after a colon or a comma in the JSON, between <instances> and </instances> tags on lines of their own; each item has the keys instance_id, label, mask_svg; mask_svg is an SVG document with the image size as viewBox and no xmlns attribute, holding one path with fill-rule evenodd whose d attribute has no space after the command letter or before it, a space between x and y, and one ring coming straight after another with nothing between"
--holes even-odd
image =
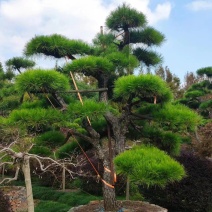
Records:
<instances>
[{"instance_id":1,"label":"clear pale blue sky area right of the tall pine's top","mask_svg":"<svg viewBox=\"0 0 212 212\"><path fill-rule=\"evenodd\" d=\"M182 78L186 72L212 66L212 1L193 1L199 2L194 8L189 0L172 2L169 18L155 27L167 39L159 49L164 65Z\"/></svg>"}]
</instances>

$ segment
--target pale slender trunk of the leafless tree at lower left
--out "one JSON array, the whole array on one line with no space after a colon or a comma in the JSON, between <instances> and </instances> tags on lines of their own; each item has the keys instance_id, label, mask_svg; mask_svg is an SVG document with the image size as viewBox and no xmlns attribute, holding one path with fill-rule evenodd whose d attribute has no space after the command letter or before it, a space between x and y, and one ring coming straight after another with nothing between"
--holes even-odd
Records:
<instances>
[{"instance_id":1,"label":"pale slender trunk of the leafless tree at lower left","mask_svg":"<svg viewBox=\"0 0 212 212\"><path fill-rule=\"evenodd\" d=\"M24 173L24 179L25 179L25 185L26 185L28 212L34 212L34 201L33 201L33 193L32 193L29 156L27 155L24 157L22 170Z\"/></svg>"}]
</instances>

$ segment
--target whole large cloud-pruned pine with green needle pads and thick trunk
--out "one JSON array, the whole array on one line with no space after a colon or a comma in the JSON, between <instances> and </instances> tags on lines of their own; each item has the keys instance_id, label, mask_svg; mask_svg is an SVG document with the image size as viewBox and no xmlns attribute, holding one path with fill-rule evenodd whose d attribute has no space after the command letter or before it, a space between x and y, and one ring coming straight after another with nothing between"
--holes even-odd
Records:
<instances>
[{"instance_id":1,"label":"whole large cloud-pruned pine with green needle pads and thick trunk","mask_svg":"<svg viewBox=\"0 0 212 212\"><path fill-rule=\"evenodd\" d=\"M8 114L2 118L0 133L5 136L9 129L19 132L23 139L18 141L28 142L24 154L19 153L33 158L32 152L46 154L51 160L70 157L79 142L91 148L105 168L103 173L90 170L102 182L105 210L115 210L113 159L131 154L127 167L135 181L164 185L180 180L183 167L168 155L179 154L180 145L202 119L174 103L170 86L161 77L133 75L140 65L149 68L162 59L153 47L160 46L165 36L147 25L143 13L122 4L109 14L106 25L111 31L98 33L92 44L59 34L35 36L26 44L26 56L66 58L68 62L60 73L58 69L28 67L14 82L4 85L0 107ZM79 84L95 88L99 100L97 95L83 95ZM9 110L5 102L13 93L21 101ZM73 140L78 143L73 144ZM135 140L143 145L126 151L127 142ZM145 163L148 161L146 171L141 155ZM124 173L122 165L117 167Z\"/></svg>"}]
</instances>

